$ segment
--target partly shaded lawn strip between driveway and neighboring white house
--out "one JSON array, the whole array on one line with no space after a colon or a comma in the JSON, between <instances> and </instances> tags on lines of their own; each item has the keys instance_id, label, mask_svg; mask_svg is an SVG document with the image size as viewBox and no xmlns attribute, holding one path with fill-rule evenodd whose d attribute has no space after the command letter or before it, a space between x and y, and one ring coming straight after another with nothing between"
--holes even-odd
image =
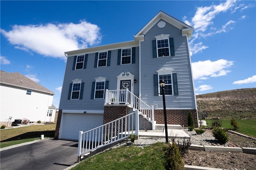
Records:
<instances>
[{"instance_id":1,"label":"partly shaded lawn strip between driveway and neighboring white house","mask_svg":"<svg viewBox=\"0 0 256 170\"><path fill-rule=\"evenodd\" d=\"M30 125L13 129L1 129L0 148L30 142L45 138L54 137L56 123L47 125Z\"/></svg>"}]
</instances>

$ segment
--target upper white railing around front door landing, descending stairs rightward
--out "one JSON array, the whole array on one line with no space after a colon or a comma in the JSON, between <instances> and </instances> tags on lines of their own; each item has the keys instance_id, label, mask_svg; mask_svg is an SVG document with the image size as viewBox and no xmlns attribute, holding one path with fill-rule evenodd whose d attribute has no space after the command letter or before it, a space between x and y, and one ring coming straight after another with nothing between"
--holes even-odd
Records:
<instances>
[{"instance_id":1,"label":"upper white railing around front door landing, descending stairs rightward","mask_svg":"<svg viewBox=\"0 0 256 170\"><path fill-rule=\"evenodd\" d=\"M154 128L154 106L150 107L140 98L135 96L128 88L124 90L108 90L106 89L105 104L128 104L139 113L152 122Z\"/></svg>"}]
</instances>

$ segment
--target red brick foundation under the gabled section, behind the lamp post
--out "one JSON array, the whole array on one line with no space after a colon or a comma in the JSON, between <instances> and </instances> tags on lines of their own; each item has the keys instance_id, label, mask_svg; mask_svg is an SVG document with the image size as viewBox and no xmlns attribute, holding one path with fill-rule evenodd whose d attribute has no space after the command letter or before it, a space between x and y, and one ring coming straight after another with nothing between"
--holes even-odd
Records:
<instances>
[{"instance_id":1,"label":"red brick foundation under the gabled section, behind the lamp post","mask_svg":"<svg viewBox=\"0 0 256 170\"><path fill-rule=\"evenodd\" d=\"M166 110L167 124L188 126L188 113L192 113L194 126L198 127L198 117L196 109L191 110ZM155 109L154 119L157 124L164 124L164 110Z\"/></svg>"}]
</instances>

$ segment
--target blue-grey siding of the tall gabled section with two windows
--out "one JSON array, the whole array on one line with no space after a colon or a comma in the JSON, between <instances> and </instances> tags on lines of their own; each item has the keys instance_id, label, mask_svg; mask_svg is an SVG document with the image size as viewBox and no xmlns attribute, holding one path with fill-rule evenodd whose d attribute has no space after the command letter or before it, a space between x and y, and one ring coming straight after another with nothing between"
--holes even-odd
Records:
<instances>
[{"instance_id":1,"label":"blue-grey siding of the tall gabled section with two windows","mask_svg":"<svg viewBox=\"0 0 256 170\"><path fill-rule=\"evenodd\" d=\"M160 20L164 21L164 20ZM174 41L175 56L153 58L152 40L155 36L170 34ZM141 99L148 105L158 105L156 109L163 108L162 96L154 96L153 75L161 68L172 68L177 74L178 96L166 96L167 109L196 109L194 87L188 54L186 36L181 30L166 22L164 28L159 28L157 23L144 35L141 42Z\"/></svg>"}]
</instances>

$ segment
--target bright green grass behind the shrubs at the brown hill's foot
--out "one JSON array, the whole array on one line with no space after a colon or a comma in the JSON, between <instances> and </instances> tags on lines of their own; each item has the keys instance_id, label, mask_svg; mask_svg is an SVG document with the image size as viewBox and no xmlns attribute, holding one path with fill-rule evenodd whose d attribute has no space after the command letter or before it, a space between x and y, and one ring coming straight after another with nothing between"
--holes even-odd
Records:
<instances>
[{"instance_id":1,"label":"bright green grass behind the shrubs at the brown hill's foot","mask_svg":"<svg viewBox=\"0 0 256 170\"><path fill-rule=\"evenodd\" d=\"M207 125L211 125L212 124L212 120L211 119L206 119L207 120ZM249 135L252 137L256 137L256 119L235 119L239 125L240 128L238 129L237 132L239 133L243 133L245 135ZM233 129L233 127L230 125L230 120L226 120L226 119L220 119L221 123L222 123L222 127L224 128L228 128L230 130Z\"/></svg>"}]
</instances>

